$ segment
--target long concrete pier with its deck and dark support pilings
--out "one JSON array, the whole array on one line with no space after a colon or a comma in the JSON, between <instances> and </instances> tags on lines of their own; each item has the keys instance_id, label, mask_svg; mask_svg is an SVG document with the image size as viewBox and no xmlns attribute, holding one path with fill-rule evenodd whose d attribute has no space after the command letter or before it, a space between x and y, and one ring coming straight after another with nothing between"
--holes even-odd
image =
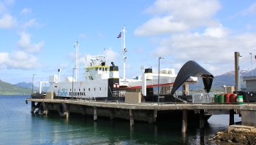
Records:
<instances>
[{"instance_id":1,"label":"long concrete pier with its deck and dark support pilings","mask_svg":"<svg viewBox=\"0 0 256 145\"><path fill-rule=\"evenodd\" d=\"M206 115L218 113L230 115L230 125L234 123L234 114L241 112L242 125L256 126L256 103L243 104L214 104L214 103L125 103L108 101L81 101L81 100L61 100L61 99L35 99L27 98L31 101L31 112L39 108L39 104L45 103L45 112L59 111L60 115L65 115L68 119L70 113L91 115L97 122L98 117L109 117L127 119L130 126L135 125L135 121L157 122L159 112L181 111L182 132L187 131L188 112L199 113L200 128L204 128ZM61 108L62 107L62 108ZM67 107L67 109L66 109ZM60 110L61 109L61 113ZM168 115L168 114L165 114ZM169 114L171 115L171 114ZM176 116L175 116L176 117Z\"/></svg>"}]
</instances>

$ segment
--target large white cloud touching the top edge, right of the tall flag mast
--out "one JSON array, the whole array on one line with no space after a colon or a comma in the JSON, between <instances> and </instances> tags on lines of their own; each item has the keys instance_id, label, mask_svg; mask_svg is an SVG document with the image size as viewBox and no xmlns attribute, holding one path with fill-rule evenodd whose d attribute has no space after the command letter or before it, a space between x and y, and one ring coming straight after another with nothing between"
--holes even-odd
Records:
<instances>
[{"instance_id":1,"label":"large white cloud touching the top edge, right of the tall flag mast","mask_svg":"<svg viewBox=\"0 0 256 145\"><path fill-rule=\"evenodd\" d=\"M211 17L220 9L217 0L157 0L146 12L154 15L135 30L136 35L170 34L198 26L217 26Z\"/></svg>"}]
</instances>

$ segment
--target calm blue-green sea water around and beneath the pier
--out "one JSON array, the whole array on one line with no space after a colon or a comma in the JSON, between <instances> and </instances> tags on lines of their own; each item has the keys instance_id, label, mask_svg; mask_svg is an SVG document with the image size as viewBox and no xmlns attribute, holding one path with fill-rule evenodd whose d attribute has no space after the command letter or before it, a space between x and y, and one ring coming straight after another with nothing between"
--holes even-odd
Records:
<instances>
[{"instance_id":1,"label":"calm blue-green sea water around and beneath the pier","mask_svg":"<svg viewBox=\"0 0 256 145\"><path fill-rule=\"evenodd\" d=\"M206 128L188 124L181 133L181 122L161 122L148 125L129 121L110 121L70 114L69 120L58 114L48 117L30 113L25 103L28 95L0 95L0 144L215 144L212 138L219 130L226 130L228 115L208 119ZM241 118L235 116L235 121Z\"/></svg>"}]
</instances>

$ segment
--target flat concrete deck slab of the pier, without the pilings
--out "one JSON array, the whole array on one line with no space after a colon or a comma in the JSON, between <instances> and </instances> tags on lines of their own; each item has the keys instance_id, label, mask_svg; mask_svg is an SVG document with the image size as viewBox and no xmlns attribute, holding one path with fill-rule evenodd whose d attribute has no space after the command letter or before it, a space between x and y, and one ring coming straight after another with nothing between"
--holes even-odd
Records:
<instances>
[{"instance_id":1,"label":"flat concrete deck slab of the pier, without the pilings","mask_svg":"<svg viewBox=\"0 0 256 145\"><path fill-rule=\"evenodd\" d=\"M256 111L256 103L243 104L217 104L217 103L124 103L124 102L105 102L105 101L77 101L62 99L35 99L27 98L27 101L47 102L47 103L69 103L84 106L95 106L113 109L143 109L143 110L200 110L200 109L238 109Z\"/></svg>"}]
</instances>

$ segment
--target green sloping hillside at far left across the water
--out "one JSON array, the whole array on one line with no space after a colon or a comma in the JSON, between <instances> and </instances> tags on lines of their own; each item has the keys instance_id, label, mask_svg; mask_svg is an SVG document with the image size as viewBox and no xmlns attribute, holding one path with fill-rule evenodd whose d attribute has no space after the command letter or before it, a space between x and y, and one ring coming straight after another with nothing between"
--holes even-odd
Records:
<instances>
[{"instance_id":1,"label":"green sloping hillside at far left across the water","mask_svg":"<svg viewBox=\"0 0 256 145\"><path fill-rule=\"evenodd\" d=\"M16 85L11 85L8 82L3 82L0 79L0 95L23 95L31 94L31 89L26 87L18 87Z\"/></svg>"}]
</instances>

